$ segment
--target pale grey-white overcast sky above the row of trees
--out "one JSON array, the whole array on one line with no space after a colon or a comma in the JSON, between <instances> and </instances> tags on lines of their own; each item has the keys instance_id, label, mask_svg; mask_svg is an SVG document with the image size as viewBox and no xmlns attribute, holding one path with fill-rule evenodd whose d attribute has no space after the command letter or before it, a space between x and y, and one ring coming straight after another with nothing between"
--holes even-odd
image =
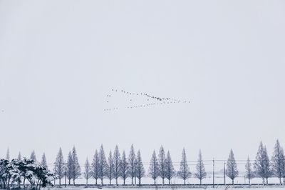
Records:
<instances>
[{"instance_id":1,"label":"pale grey-white overcast sky above the row of trees","mask_svg":"<svg viewBox=\"0 0 285 190\"><path fill-rule=\"evenodd\" d=\"M285 146L284 1L0 1L0 157ZM111 89L191 100L125 109ZM121 94L122 95L122 94ZM141 99L140 99L141 100ZM110 103L110 104L109 104ZM103 111L118 106L115 111Z\"/></svg>"}]
</instances>

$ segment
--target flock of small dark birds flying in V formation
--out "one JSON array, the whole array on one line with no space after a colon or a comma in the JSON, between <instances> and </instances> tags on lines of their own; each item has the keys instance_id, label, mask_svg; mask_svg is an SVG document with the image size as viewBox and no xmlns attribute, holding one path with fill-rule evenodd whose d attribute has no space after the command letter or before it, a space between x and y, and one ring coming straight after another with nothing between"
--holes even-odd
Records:
<instances>
[{"instance_id":1,"label":"flock of small dark birds flying in V formation","mask_svg":"<svg viewBox=\"0 0 285 190\"><path fill-rule=\"evenodd\" d=\"M162 97L157 97L157 96L151 96L150 94L146 94L146 93L133 93L130 91L123 91L123 90L118 90L118 89L112 89L112 94L108 94L107 95L107 104L110 103L110 97L114 96L114 93L121 93L121 94L125 94L125 95L129 95L129 99L128 102L130 102L130 104L133 103L133 105L129 105L129 106L125 106L126 109L136 109L136 108L143 108L143 107L147 107L147 106L155 106L155 105L159 105L159 104L179 104L179 103L191 103L191 101L181 101L179 99L170 99L170 98L162 98ZM143 96L145 97L144 104L134 104L135 103L135 97L138 96ZM113 107L113 109L104 109L104 111L113 111L113 110L118 110L118 107Z\"/></svg>"}]
</instances>

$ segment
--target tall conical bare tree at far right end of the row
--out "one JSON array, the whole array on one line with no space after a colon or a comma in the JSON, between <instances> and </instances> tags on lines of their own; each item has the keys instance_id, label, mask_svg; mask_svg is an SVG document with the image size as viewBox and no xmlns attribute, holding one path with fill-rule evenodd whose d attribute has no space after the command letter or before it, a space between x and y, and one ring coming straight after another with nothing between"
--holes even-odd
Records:
<instances>
[{"instance_id":1,"label":"tall conical bare tree at far right end of the row","mask_svg":"<svg viewBox=\"0 0 285 190\"><path fill-rule=\"evenodd\" d=\"M274 152L271 159L272 169L274 176L279 178L279 183L282 184L281 178L283 176L283 164L284 164L284 150L280 146L279 140L277 139L274 146Z\"/></svg>"}]
</instances>

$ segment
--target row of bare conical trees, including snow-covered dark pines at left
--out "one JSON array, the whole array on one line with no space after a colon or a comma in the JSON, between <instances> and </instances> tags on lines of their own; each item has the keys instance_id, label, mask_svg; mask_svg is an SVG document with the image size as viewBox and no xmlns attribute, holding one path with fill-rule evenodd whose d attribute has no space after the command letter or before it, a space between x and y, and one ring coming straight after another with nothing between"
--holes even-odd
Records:
<instances>
[{"instance_id":1,"label":"row of bare conical trees, including snow-covered dark pines at left","mask_svg":"<svg viewBox=\"0 0 285 190\"><path fill-rule=\"evenodd\" d=\"M37 181L41 180L40 182L44 185L50 184L49 180L51 179L58 180L59 185L61 185L62 179L65 179L65 184L66 182L68 182L68 184L71 184L72 182L73 185L75 185L76 179L80 176L83 176L86 179L86 184L88 184L88 179L93 178L95 179L95 184L100 185L103 185L103 179L108 179L108 184L112 184L112 180L115 179L115 185L118 185L118 179L123 179L123 185L125 185L125 181L128 178L131 179L132 185L141 185L142 178L145 176L151 177L154 184L157 184L158 178L162 179L162 185L171 184L171 179L174 176L179 177L184 181L184 184L186 184L187 179L193 176L199 179L199 184L202 185L202 180L207 176L201 150L199 151L197 164L193 174L188 166L189 161L187 161L185 149L182 150L182 158L178 171L175 171L172 164L170 151L165 153L163 146L160 147L158 155L153 151L147 172L145 171L142 162L140 150L135 152L133 145L130 147L128 156L125 154L125 151L120 154L118 146L115 146L115 150L113 152L110 151L107 157L105 156L103 145L101 145L98 151L95 150L91 162L86 159L86 163L83 166L84 169L81 172L81 166L78 162L75 146L69 151L66 161L63 159L63 153L60 148L56 156L56 161L53 164L54 167L51 169L53 171L49 171L45 154L42 156L41 163L36 161L36 154L34 151L32 152L30 159L21 159L21 154L19 154L18 159L9 161L9 151L7 151L6 159L1 159L0 161L0 187L5 188L5 185L9 185L9 183L13 184L17 182L21 184L22 180L28 179L26 178L26 174L23 173L27 170L19 171L20 174L17 177L10 176L11 181L7 179L7 175L4 172L9 171L10 169L13 170L15 167L19 169L15 163L27 163L28 161L33 161L33 164L36 167L41 166L43 171L48 172L43 172L46 175L48 174L48 180L46 180L45 177L40 178L36 176L36 174L38 174L38 171L36 170L30 172L34 174L33 179L38 179ZM15 167L13 165L15 165ZM249 179L249 184L253 178L261 178L263 184L268 184L268 179L272 176L278 177L280 184L282 184L281 179L283 179L283 183L285 184L285 156L284 149L279 144L279 141L276 141L271 159L269 159L267 154L266 146L261 142L256 159L252 161L249 157L247 158L245 171L245 177ZM237 161L234 159L234 151L232 149L229 152L227 164L224 166L224 175L228 176L229 179L232 179L232 184L234 184L234 179L239 175ZM9 182L7 183L7 181ZM29 179L28 181L31 184L35 183L35 181L30 181Z\"/></svg>"}]
</instances>

